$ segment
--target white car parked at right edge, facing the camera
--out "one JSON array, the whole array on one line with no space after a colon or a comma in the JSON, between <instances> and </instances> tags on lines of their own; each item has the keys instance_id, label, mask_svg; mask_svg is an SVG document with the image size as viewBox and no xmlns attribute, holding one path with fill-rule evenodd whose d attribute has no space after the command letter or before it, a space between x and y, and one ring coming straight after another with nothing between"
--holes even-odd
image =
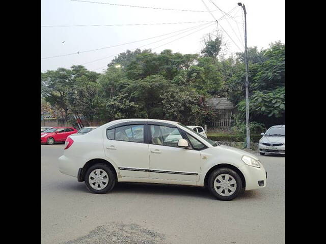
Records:
<instances>
[{"instance_id":1,"label":"white car parked at right edge, facing the camera","mask_svg":"<svg viewBox=\"0 0 326 244\"><path fill-rule=\"evenodd\" d=\"M258 143L259 154L285 154L285 125L272 126Z\"/></svg>"}]
</instances>

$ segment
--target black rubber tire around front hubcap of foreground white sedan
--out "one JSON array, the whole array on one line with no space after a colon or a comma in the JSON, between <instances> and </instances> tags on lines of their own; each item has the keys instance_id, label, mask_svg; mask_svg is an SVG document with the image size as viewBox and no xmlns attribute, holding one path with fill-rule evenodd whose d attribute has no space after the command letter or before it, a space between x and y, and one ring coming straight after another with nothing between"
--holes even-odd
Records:
<instances>
[{"instance_id":1,"label":"black rubber tire around front hubcap of foreground white sedan","mask_svg":"<svg viewBox=\"0 0 326 244\"><path fill-rule=\"evenodd\" d=\"M216 177L218 177L221 174L229 174L236 181L236 189L229 196L223 196L223 195L221 195L221 194L225 194L225 190L222 190L222 192L224 191L224 193L219 194L216 191L218 188L215 188L214 187L214 180L216 179ZM223 177L223 175L221 177ZM216 182L218 182L218 181L216 181ZM241 178L240 178L239 174L237 172L235 172L234 170L232 170L230 168L220 168L220 169L215 169L213 172L211 172L211 174L209 175L208 181L207 181L207 186L208 186L209 191L216 198L218 198L219 200L222 200L222 201L230 201L230 200L236 198L239 195L239 193L241 192L241 189L242 189L242 181L241 181ZM235 186L235 184L233 186ZM230 194L229 190L228 190L228 193Z\"/></svg>"}]
</instances>

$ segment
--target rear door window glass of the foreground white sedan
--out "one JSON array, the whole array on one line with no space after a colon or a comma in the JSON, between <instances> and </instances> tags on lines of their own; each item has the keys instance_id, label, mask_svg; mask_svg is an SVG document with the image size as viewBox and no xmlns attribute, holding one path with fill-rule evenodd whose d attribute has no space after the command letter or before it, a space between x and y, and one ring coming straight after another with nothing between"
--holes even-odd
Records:
<instances>
[{"instance_id":1,"label":"rear door window glass of the foreground white sedan","mask_svg":"<svg viewBox=\"0 0 326 244\"><path fill-rule=\"evenodd\" d=\"M144 125L122 126L116 128L115 140L144 143Z\"/></svg>"}]
</instances>

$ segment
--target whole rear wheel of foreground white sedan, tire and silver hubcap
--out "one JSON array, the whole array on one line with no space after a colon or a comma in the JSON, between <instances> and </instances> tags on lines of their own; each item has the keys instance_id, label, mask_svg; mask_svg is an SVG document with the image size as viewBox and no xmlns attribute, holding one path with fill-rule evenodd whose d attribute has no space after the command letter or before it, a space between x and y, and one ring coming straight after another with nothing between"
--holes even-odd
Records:
<instances>
[{"instance_id":1,"label":"whole rear wheel of foreground white sedan, tire and silver hubcap","mask_svg":"<svg viewBox=\"0 0 326 244\"><path fill-rule=\"evenodd\" d=\"M103 194L110 192L116 184L113 170L106 164L91 166L85 175L85 184L90 192Z\"/></svg>"}]
</instances>

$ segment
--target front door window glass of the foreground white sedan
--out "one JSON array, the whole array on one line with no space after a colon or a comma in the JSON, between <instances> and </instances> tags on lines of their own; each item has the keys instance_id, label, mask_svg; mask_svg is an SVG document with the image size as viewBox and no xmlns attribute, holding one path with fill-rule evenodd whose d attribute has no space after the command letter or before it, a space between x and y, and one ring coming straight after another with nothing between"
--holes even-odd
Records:
<instances>
[{"instance_id":1,"label":"front door window glass of the foreground white sedan","mask_svg":"<svg viewBox=\"0 0 326 244\"><path fill-rule=\"evenodd\" d=\"M150 126L152 144L178 147L178 141L182 136L177 128L167 126Z\"/></svg>"}]
</instances>

